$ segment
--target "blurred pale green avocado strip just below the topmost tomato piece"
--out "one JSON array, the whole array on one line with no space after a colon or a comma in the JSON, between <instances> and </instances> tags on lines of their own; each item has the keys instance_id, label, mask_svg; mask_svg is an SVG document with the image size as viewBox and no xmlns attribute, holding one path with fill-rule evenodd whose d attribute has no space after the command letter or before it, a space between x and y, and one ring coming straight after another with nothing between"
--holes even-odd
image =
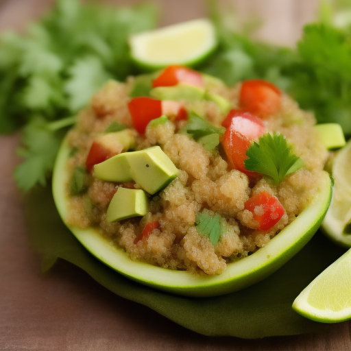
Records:
<instances>
[{"instance_id":1,"label":"blurred pale green avocado strip just below the topmost tomato piece","mask_svg":"<svg viewBox=\"0 0 351 351\"><path fill-rule=\"evenodd\" d=\"M205 90L186 84L175 86L158 86L150 90L150 96L159 100L197 101L204 99Z\"/></svg>"}]
</instances>

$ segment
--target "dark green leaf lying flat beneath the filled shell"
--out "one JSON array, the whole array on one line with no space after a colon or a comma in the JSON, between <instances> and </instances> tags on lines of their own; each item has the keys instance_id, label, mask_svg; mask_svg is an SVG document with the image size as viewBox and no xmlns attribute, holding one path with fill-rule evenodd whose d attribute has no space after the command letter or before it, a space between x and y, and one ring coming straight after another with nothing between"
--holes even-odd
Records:
<instances>
[{"instance_id":1,"label":"dark green leaf lying flat beneath the filled shell","mask_svg":"<svg viewBox=\"0 0 351 351\"><path fill-rule=\"evenodd\" d=\"M49 186L27 195L26 215L32 243L43 255L44 271L63 258L117 295L195 332L253 339L328 328L291 308L300 291L343 253L319 232L291 261L252 287L215 298L186 298L133 282L98 261L62 223Z\"/></svg>"}]
</instances>

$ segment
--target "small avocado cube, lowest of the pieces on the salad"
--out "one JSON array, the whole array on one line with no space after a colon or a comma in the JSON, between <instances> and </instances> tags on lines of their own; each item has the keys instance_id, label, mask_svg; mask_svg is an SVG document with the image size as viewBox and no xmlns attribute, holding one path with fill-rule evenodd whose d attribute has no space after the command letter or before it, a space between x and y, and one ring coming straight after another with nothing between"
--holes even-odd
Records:
<instances>
[{"instance_id":1,"label":"small avocado cube, lowest of the pieces on the salad","mask_svg":"<svg viewBox=\"0 0 351 351\"><path fill-rule=\"evenodd\" d=\"M143 190L119 187L108 206L106 219L113 222L145 216L148 212L148 204L147 195Z\"/></svg>"}]
</instances>

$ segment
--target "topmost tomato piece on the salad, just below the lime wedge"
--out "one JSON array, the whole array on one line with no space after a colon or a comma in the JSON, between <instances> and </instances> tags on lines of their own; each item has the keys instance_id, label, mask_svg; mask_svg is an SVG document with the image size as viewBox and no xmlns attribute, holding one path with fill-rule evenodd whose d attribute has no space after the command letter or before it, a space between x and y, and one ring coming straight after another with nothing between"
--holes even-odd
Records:
<instances>
[{"instance_id":1,"label":"topmost tomato piece on the salad, just below the lime wedge","mask_svg":"<svg viewBox=\"0 0 351 351\"><path fill-rule=\"evenodd\" d=\"M174 86L179 83L188 84L202 88L204 82L201 73L184 66L168 66L162 73L152 81L152 86Z\"/></svg>"}]
</instances>

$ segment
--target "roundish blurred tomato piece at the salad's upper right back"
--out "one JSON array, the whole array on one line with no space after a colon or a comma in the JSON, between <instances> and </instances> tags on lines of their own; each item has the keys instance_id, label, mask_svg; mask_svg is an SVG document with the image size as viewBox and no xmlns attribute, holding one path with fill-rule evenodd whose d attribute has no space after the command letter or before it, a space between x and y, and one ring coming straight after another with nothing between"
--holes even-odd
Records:
<instances>
[{"instance_id":1,"label":"roundish blurred tomato piece at the salad's upper right back","mask_svg":"<svg viewBox=\"0 0 351 351\"><path fill-rule=\"evenodd\" d=\"M244 110L265 118L279 110L282 93L265 80L246 80L241 86L239 102Z\"/></svg>"}]
</instances>

